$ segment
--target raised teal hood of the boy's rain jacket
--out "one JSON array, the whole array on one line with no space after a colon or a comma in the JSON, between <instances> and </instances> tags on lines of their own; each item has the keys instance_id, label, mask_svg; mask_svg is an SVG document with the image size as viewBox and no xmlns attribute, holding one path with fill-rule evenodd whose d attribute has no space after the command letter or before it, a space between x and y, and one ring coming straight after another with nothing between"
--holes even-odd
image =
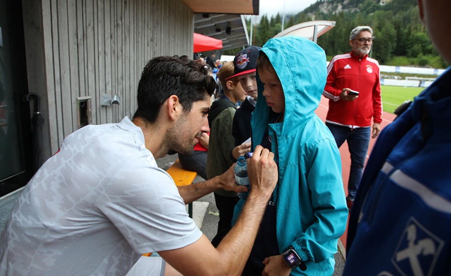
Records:
<instances>
[{"instance_id":1,"label":"raised teal hood of the boy's rain jacket","mask_svg":"<svg viewBox=\"0 0 451 276\"><path fill-rule=\"evenodd\" d=\"M270 39L260 52L264 52L282 83L285 95L284 122L299 122L314 116L326 84L327 64L324 50L316 43L297 36ZM264 129L270 122L271 108L263 96L263 84L258 77L258 101L253 121L258 130L253 133L256 144L260 144ZM290 123L284 123L282 134L291 130ZM254 131L254 130L253 130Z\"/></svg>"}]
</instances>

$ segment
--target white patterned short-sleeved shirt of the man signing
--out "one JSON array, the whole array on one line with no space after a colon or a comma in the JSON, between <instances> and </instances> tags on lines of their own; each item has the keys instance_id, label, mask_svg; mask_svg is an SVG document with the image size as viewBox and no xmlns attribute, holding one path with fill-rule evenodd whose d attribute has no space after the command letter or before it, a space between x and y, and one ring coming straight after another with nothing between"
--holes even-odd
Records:
<instances>
[{"instance_id":1,"label":"white patterned short-sleeved shirt of the man signing","mask_svg":"<svg viewBox=\"0 0 451 276\"><path fill-rule=\"evenodd\" d=\"M125 275L141 254L202 235L129 118L66 137L19 196L0 239L3 275Z\"/></svg>"}]
</instances>

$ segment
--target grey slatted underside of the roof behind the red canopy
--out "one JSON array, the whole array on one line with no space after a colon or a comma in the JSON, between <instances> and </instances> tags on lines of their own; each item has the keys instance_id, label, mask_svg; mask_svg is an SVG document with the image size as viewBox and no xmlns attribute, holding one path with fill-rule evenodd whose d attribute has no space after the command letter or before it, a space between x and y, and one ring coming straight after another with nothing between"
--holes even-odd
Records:
<instances>
[{"instance_id":1,"label":"grey slatted underside of the roof behind the red canopy","mask_svg":"<svg viewBox=\"0 0 451 276\"><path fill-rule=\"evenodd\" d=\"M222 50L249 45L246 21L242 15L194 14L194 32L222 40Z\"/></svg>"}]
</instances>

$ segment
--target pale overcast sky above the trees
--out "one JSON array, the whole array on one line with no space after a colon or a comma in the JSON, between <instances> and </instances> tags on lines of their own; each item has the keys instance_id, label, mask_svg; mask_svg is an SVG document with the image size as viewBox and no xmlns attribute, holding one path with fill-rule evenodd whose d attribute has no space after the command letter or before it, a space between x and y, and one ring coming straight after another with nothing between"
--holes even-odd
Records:
<instances>
[{"instance_id":1,"label":"pale overcast sky above the trees","mask_svg":"<svg viewBox=\"0 0 451 276\"><path fill-rule=\"evenodd\" d=\"M317 0L260 0L260 15L267 15L268 19L277 13L282 16L285 6L285 14L297 14ZM285 3L285 4L284 4Z\"/></svg>"}]
</instances>

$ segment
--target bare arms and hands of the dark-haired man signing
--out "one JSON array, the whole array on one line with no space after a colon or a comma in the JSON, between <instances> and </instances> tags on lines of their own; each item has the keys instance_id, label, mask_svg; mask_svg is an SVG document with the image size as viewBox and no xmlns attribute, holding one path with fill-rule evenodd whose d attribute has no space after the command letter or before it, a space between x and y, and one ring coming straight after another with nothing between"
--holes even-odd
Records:
<instances>
[{"instance_id":1,"label":"bare arms and hands of the dark-haired man signing","mask_svg":"<svg viewBox=\"0 0 451 276\"><path fill-rule=\"evenodd\" d=\"M193 244L159 252L161 257L183 275L241 275L257 236L258 227L268 200L274 191L278 179L274 153L262 146L255 147L254 155L248 160L247 169L249 179L252 179L252 189L236 225L232 227L217 249L211 245L205 235L202 235ZM220 183L220 185L225 184L224 187L228 188L242 187L235 185L233 167L230 167L225 174L221 175L219 182L224 182ZM202 183L199 184L202 185ZM215 187L216 183L213 181L207 183L205 188L195 192L192 191L191 194L201 195ZM236 189L236 192L238 190L240 189ZM245 190L247 191L247 189ZM244 190L240 191L244 192Z\"/></svg>"}]
</instances>

